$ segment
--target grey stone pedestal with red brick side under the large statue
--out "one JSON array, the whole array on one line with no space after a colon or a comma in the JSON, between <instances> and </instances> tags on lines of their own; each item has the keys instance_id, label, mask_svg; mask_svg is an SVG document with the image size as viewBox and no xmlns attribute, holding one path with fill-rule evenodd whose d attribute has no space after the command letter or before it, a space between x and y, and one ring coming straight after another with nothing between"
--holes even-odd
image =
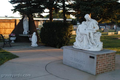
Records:
<instances>
[{"instance_id":1,"label":"grey stone pedestal with red brick side under the large statue","mask_svg":"<svg viewBox=\"0 0 120 80\"><path fill-rule=\"evenodd\" d=\"M86 51L64 46L63 64L97 75L115 70L115 51Z\"/></svg>"}]
</instances>

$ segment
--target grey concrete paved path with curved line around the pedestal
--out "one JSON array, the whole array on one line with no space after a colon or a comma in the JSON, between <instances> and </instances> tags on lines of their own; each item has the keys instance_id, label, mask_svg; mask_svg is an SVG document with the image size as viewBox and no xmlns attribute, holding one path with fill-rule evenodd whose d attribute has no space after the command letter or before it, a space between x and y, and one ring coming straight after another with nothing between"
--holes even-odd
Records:
<instances>
[{"instance_id":1,"label":"grey concrete paved path with curved line around the pedestal","mask_svg":"<svg viewBox=\"0 0 120 80\"><path fill-rule=\"evenodd\" d=\"M120 80L120 55L116 55L115 71L94 76L64 65L62 49L31 47L29 43L4 49L19 58L0 66L0 80Z\"/></svg>"}]
</instances>

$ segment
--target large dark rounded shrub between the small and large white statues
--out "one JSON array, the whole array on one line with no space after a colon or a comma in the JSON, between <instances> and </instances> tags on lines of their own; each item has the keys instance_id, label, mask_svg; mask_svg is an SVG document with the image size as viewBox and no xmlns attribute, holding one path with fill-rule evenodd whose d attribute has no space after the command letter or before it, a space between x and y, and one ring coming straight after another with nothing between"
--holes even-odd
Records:
<instances>
[{"instance_id":1,"label":"large dark rounded shrub between the small and large white statues","mask_svg":"<svg viewBox=\"0 0 120 80\"><path fill-rule=\"evenodd\" d=\"M72 35L73 26L63 22L47 22L41 28L41 42L52 47L60 48L67 45Z\"/></svg>"}]
</instances>

